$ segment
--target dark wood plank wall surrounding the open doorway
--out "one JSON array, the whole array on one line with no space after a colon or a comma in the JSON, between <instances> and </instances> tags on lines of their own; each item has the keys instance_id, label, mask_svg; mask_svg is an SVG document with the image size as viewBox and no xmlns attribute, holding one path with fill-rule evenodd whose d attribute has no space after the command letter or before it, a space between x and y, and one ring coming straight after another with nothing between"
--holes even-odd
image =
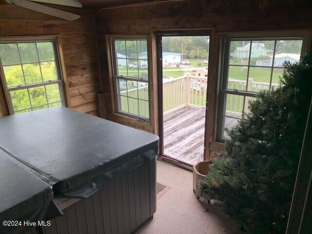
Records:
<instances>
[{"instance_id":1,"label":"dark wood plank wall surrounding the open doorway","mask_svg":"<svg viewBox=\"0 0 312 234\"><path fill-rule=\"evenodd\" d=\"M255 32L279 30L310 30L312 29L311 1L295 0L184 0L181 2L161 2L156 4L139 4L117 8L106 8L99 11L97 20L98 46L100 51L100 69L105 91L105 106L108 118L124 123L122 117L113 114L109 77L109 62L105 36L109 34L147 34L150 44L153 41L153 31L166 29L199 29L212 28L210 61L211 66L208 82L208 112L206 148L212 153L222 150L223 144L215 141L216 99L219 69L219 41L222 33ZM155 45L154 45L155 47ZM155 51L155 48L152 48ZM155 57L155 54L152 55ZM151 64L151 63L150 63ZM153 65L153 81L156 79L156 65ZM156 92L153 90L152 97ZM154 104L156 99L154 100ZM157 105L151 106L155 113L150 128L136 125L147 131L156 133ZM113 115L113 116L112 116ZM126 122L134 126L133 122ZM209 158L209 153L206 159Z\"/></svg>"}]
</instances>

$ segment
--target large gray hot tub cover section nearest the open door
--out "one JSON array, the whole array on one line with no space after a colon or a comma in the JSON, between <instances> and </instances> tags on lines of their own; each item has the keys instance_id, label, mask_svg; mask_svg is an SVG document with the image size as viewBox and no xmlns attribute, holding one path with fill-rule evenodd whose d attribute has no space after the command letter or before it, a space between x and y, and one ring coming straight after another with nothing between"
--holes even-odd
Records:
<instances>
[{"instance_id":1,"label":"large gray hot tub cover section nearest the open door","mask_svg":"<svg viewBox=\"0 0 312 234\"><path fill-rule=\"evenodd\" d=\"M53 185L86 198L158 154L158 137L64 107L0 118L0 146Z\"/></svg>"}]
</instances>

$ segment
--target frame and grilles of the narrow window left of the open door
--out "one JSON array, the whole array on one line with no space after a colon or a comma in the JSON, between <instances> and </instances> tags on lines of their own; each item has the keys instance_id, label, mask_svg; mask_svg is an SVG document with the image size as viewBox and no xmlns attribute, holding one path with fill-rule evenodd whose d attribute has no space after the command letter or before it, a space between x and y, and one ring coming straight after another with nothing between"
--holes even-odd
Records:
<instances>
[{"instance_id":1,"label":"frame and grilles of the narrow window left of the open door","mask_svg":"<svg viewBox=\"0 0 312 234\"><path fill-rule=\"evenodd\" d=\"M117 67L117 51L116 51L116 46L115 46L115 41L116 40L137 40L137 39L144 39L146 40L146 46L147 46L147 58L146 59L137 59L137 60L146 60L147 61L147 71L148 71L148 79L143 79L143 78L133 78L133 77L128 77L128 76L124 76L124 75L117 75L117 71L118 71L118 67ZM112 35L109 36L109 46L110 46L110 57L111 57L111 68L112 68L112 84L113 84L113 97L114 97L114 108L115 108L115 113L125 116L125 117L130 117L133 118L137 121L140 122L147 122L150 123L151 122L151 91L150 91L150 83L151 83L151 69L150 69L150 51L149 51L149 37L147 35ZM120 59L120 58L119 58ZM128 60L128 58L126 57L125 59ZM127 61L127 69L128 69L128 61ZM137 68L138 69L138 68ZM126 112L122 112L119 111L119 105L118 105L118 90L117 90L117 79L125 79L126 81L137 81L137 82L144 82L147 83L148 85L148 100L143 100L140 98L134 98L137 99L137 101L139 102L139 100L143 100L143 101L147 101L148 102L148 111L149 111L149 117L142 117L139 115L134 115L131 113L126 113ZM138 88L138 87L137 87ZM128 99L128 96L127 96ZM129 108L129 106L128 106ZM128 109L129 110L129 109ZM138 104L138 111L139 111L139 104ZM139 113L139 112L138 112Z\"/></svg>"}]
</instances>

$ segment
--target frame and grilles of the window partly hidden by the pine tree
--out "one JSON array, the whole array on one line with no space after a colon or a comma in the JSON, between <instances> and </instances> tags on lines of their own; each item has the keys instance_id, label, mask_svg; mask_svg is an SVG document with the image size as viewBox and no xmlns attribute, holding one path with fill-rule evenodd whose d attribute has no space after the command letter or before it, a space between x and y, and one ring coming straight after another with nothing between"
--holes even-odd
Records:
<instances>
[{"instance_id":1,"label":"frame and grilles of the window partly hidden by the pine tree","mask_svg":"<svg viewBox=\"0 0 312 234\"><path fill-rule=\"evenodd\" d=\"M259 32L259 33L234 33L234 34L228 34L221 37L220 40L220 73L219 73L219 88L218 88L218 98L217 98L217 105L216 105L216 131L215 131L215 139L220 142L225 142L228 138L223 137L223 129L224 129L224 110L226 109L226 95L238 95L243 96L243 112L245 111L245 99L246 97L256 98L258 93L253 91L243 91L243 90L237 90L237 89L228 89L228 72L229 72L229 60L230 60L230 43L231 40L250 40L257 41L257 40L274 40L274 49L273 49L273 61L271 66L257 66L257 65L251 65L251 53L252 50L250 48L249 50L249 57L248 57L248 64L247 65L240 65L240 66L246 66L248 68L247 72L247 80L246 80L246 86L248 86L248 79L249 79L249 70L251 67L263 67L263 68L271 68L271 77L270 77L270 87L269 90L272 88L272 77L273 77L273 69L275 68L281 68L274 66L274 60L275 60L275 49L276 49L276 41L278 40L291 40L291 39L301 39L302 40L302 47L301 47L301 54L300 54L300 60L304 57L305 52L308 49L308 38L309 38L309 32L306 31L296 31L296 32ZM252 47L252 43L250 45ZM232 66L233 64L231 64ZM242 116L243 117L243 116ZM241 119L241 118L240 118Z\"/></svg>"}]
</instances>

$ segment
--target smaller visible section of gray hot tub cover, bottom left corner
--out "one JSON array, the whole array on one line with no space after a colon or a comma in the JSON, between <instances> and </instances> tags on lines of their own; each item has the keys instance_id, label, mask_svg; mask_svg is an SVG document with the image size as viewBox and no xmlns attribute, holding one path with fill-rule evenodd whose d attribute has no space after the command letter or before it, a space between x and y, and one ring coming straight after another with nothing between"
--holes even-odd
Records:
<instances>
[{"instance_id":1,"label":"smaller visible section of gray hot tub cover, bottom left corner","mask_svg":"<svg viewBox=\"0 0 312 234\"><path fill-rule=\"evenodd\" d=\"M24 221L38 222L53 214L52 186L0 149L0 233L20 233L28 227ZM52 210L51 210L52 208ZM17 221L4 226L3 221ZM21 225L19 225L21 222Z\"/></svg>"}]
</instances>

